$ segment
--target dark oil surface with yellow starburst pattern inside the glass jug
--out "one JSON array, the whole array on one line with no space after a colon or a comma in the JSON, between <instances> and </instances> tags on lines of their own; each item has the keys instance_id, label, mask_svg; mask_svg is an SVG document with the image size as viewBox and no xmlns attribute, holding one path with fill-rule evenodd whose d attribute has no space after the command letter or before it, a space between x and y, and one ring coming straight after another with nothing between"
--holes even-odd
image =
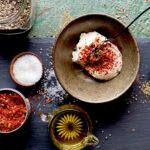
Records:
<instances>
[{"instance_id":1,"label":"dark oil surface with yellow starburst pattern inside the glass jug","mask_svg":"<svg viewBox=\"0 0 150 150\"><path fill-rule=\"evenodd\" d=\"M55 118L54 135L61 143L78 143L87 136L87 130L85 117L78 111L64 111Z\"/></svg>"}]
</instances>

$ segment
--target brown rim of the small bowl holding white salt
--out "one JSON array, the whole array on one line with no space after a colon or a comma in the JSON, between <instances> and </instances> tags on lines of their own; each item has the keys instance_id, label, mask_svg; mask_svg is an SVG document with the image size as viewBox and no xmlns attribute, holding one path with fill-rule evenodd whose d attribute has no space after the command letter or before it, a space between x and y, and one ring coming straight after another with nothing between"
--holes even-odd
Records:
<instances>
[{"instance_id":1,"label":"brown rim of the small bowl holding white salt","mask_svg":"<svg viewBox=\"0 0 150 150\"><path fill-rule=\"evenodd\" d=\"M39 61L40 61L41 64L42 64L42 75L43 75L43 72L44 72L43 62L42 62L41 58L40 58L38 55L36 55L35 53L32 53L32 52L22 52L22 53L19 53L18 55L16 55L16 56L12 59L12 61L11 61L11 63L10 63L9 72L10 72L10 76L11 76L12 80L13 80L15 83L17 83L18 85L21 85L21 86L24 86L24 87L31 87L31 86L37 84L40 80L37 81L37 82L35 82L35 83L32 84L32 85L22 84L22 83L20 83L20 82L15 78L15 75L14 75L14 73L13 73L13 65L14 65L15 61L16 61L19 57L21 57L21 56L23 56L23 55L33 55L33 56L35 56L35 57L37 57L37 58L39 59Z\"/></svg>"}]
</instances>

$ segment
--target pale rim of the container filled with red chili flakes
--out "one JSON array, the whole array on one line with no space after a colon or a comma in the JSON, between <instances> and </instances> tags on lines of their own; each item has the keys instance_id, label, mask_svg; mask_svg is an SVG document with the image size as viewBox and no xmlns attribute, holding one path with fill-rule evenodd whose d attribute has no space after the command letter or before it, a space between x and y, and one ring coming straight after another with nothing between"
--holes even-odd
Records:
<instances>
[{"instance_id":1,"label":"pale rim of the container filled with red chili flakes","mask_svg":"<svg viewBox=\"0 0 150 150\"><path fill-rule=\"evenodd\" d=\"M31 106L30 106L29 100L27 98L25 98L25 96L22 93L20 93L18 90L15 90L15 89L12 89L12 88L2 88L2 89L0 89L0 93L3 93L3 92L8 92L8 93L9 92L14 92L14 93L16 93L17 95L19 95L22 98L22 100L23 100L23 102L25 103L25 106L26 106L26 116L25 116L24 121L20 124L19 127L17 127L14 130L11 130L9 132L0 131L0 133L3 133L3 134L7 133L8 134L8 133L13 133L13 132L19 130L25 124L25 122L27 121L27 119L30 115Z\"/></svg>"}]
</instances>

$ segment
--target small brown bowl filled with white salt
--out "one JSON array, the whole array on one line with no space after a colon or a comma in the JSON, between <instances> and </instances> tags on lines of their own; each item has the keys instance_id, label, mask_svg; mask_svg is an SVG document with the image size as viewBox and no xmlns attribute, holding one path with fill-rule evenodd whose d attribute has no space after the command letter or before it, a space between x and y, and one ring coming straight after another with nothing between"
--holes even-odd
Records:
<instances>
[{"instance_id":1,"label":"small brown bowl filled with white salt","mask_svg":"<svg viewBox=\"0 0 150 150\"><path fill-rule=\"evenodd\" d=\"M33 86L43 76L43 63L39 56L32 52L19 53L10 63L10 75L14 82L21 86Z\"/></svg>"}]
</instances>

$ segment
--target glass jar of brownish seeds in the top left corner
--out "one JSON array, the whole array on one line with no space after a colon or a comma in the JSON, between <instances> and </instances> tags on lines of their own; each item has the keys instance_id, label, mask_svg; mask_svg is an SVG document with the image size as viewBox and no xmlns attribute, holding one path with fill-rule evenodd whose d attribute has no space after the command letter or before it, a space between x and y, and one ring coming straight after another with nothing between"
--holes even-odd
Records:
<instances>
[{"instance_id":1,"label":"glass jar of brownish seeds in the top left corner","mask_svg":"<svg viewBox=\"0 0 150 150\"><path fill-rule=\"evenodd\" d=\"M0 0L0 35L29 31L35 19L34 0Z\"/></svg>"}]
</instances>

